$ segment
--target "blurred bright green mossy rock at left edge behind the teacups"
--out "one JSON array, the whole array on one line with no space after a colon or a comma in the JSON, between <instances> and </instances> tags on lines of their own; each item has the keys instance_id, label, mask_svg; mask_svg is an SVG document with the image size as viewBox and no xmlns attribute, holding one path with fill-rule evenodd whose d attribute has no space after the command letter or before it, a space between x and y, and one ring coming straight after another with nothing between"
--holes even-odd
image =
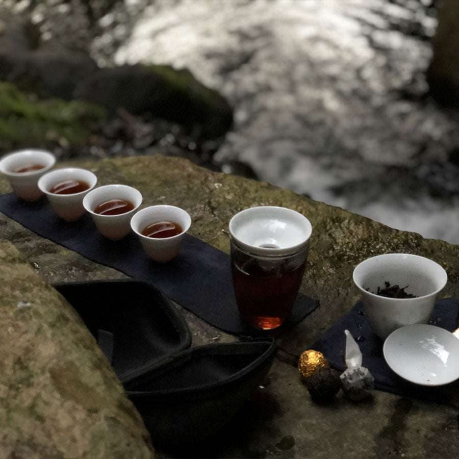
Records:
<instances>
[{"instance_id":1,"label":"blurred bright green mossy rock at left edge behind the teacups","mask_svg":"<svg viewBox=\"0 0 459 459\"><path fill-rule=\"evenodd\" d=\"M11 83L0 82L0 154L34 146L80 148L100 127L103 107L80 100L37 100Z\"/></svg>"}]
</instances>

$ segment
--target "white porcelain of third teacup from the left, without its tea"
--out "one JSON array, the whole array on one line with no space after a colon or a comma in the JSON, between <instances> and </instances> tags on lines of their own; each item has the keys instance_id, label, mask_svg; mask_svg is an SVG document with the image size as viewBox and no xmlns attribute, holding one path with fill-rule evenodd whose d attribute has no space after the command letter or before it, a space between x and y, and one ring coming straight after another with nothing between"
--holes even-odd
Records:
<instances>
[{"instance_id":1,"label":"white porcelain of third teacup from the left, without its tea","mask_svg":"<svg viewBox=\"0 0 459 459\"><path fill-rule=\"evenodd\" d=\"M100 215L94 210L97 206L111 199L125 199L133 203L134 208L119 215ZM83 207L91 214L100 234L113 241L118 241L131 231L131 218L142 203L140 191L127 185L105 185L94 188L83 198Z\"/></svg>"}]
</instances>

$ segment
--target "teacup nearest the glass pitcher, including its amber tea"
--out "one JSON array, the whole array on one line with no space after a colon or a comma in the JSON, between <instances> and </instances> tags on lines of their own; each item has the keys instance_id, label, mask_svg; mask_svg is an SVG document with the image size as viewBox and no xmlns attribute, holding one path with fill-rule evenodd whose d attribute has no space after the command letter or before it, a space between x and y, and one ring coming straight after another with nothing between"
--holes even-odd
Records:
<instances>
[{"instance_id":1,"label":"teacup nearest the glass pitcher, including its amber tea","mask_svg":"<svg viewBox=\"0 0 459 459\"><path fill-rule=\"evenodd\" d=\"M146 207L131 219L143 250L158 263L167 263L179 254L190 226L191 217L186 211L167 205Z\"/></svg>"}]
</instances>

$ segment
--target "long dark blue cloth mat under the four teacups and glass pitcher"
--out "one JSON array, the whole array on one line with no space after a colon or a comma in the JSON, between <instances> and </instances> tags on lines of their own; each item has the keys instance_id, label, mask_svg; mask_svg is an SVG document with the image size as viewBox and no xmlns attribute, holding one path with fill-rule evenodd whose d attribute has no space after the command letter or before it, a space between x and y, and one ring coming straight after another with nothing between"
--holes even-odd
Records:
<instances>
[{"instance_id":1,"label":"long dark blue cloth mat under the four teacups and glass pitcher","mask_svg":"<svg viewBox=\"0 0 459 459\"><path fill-rule=\"evenodd\" d=\"M197 238L186 235L179 257L167 264L158 264L146 257L136 235L110 241L99 234L89 214L76 222L65 222L54 213L45 197L37 202L25 202L13 193L4 194L0 196L0 212L89 260L154 284L185 309L228 333L269 334L240 320L230 257ZM271 334L296 325L318 304L318 300L298 295L290 318Z\"/></svg>"}]
</instances>

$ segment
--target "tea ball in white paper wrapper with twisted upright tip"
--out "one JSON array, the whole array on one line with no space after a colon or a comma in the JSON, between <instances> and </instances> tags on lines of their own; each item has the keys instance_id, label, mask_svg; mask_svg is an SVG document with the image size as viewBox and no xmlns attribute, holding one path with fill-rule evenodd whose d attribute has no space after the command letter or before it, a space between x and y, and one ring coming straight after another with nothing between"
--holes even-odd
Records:
<instances>
[{"instance_id":1,"label":"tea ball in white paper wrapper with twisted upright tip","mask_svg":"<svg viewBox=\"0 0 459 459\"><path fill-rule=\"evenodd\" d=\"M362 352L350 331L344 330L344 333L346 334L347 370L340 375L342 389L351 400L363 400L374 389L374 377L368 368L362 367Z\"/></svg>"}]
</instances>

